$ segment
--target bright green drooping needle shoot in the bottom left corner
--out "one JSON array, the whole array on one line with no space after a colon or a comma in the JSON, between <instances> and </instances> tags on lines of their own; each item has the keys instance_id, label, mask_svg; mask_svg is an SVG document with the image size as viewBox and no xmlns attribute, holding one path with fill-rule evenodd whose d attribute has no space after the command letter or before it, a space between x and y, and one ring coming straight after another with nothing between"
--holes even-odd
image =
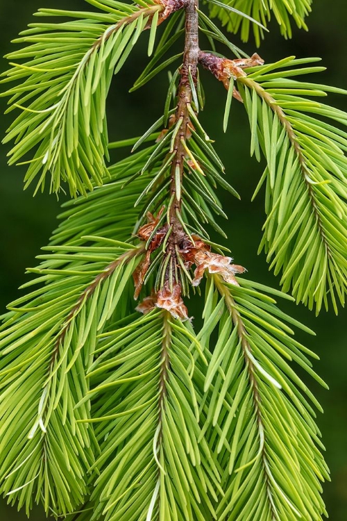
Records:
<instances>
[{"instance_id":1,"label":"bright green drooping needle shoot in the bottom left corner","mask_svg":"<svg viewBox=\"0 0 347 521\"><path fill-rule=\"evenodd\" d=\"M8 306L1 327L0 472L3 493L27 512L42 499L47 513L66 514L83 502L99 452L79 423L90 418L90 404L75 406L89 389L96 333L124 297L137 249L98 238L49 249L28 270L40 276L25 287L39 288Z\"/></svg>"}]
</instances>

